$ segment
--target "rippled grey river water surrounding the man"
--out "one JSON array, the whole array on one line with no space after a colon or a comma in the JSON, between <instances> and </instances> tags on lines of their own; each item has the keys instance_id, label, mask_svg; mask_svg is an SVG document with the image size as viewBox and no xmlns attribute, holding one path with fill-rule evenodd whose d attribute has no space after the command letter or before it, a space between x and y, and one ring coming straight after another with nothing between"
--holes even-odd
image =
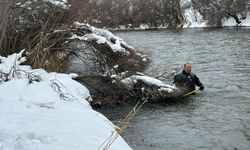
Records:
<instances>
[{"instance_id":1,"label":"rippled grey river water surrounding the man","mask_svg":"<svg viewBox=\"0 0 250 150\"><path fill-rule=\"evenodd\" d=\"M250 150L249 28L115 34L151 58L145 74L155 76L190 62L205 86L176 103L145 104L123 133L133 149ZM131 108L103 113L117 121Z\"/></svg>"}]
</instances>

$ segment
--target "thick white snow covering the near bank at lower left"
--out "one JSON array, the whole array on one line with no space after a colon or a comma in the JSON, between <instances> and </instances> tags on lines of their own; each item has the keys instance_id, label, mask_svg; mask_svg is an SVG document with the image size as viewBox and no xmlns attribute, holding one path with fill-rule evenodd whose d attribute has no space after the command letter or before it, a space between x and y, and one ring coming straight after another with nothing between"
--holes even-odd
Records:
<instances>
[{"instance_id":1,"label":"thick white snow covering the near bank at lower left","mask_svg":"<svg viewBox=\"0 0 250 150\"><path fill-rule=\"evenodd\" d=\"M76 74L21 65L23 52L0 57L0 149L97 150L115 126L91 108L88 89ZM110 149L131 148L118 136Z\"/></svg>"}]
</instances>

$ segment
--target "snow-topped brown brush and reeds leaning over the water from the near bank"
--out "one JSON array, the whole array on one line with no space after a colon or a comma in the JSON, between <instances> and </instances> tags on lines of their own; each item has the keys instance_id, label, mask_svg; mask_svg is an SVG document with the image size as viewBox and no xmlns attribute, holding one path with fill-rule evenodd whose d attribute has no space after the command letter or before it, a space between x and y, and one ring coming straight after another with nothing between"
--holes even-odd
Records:
<instances>
[{"instance_id":1,"label":"snow-topped brown brush and reeds leaning over the water from the near bank","mask_svg":"<svg viewBox=\"0 0 250 150\"><path fill-rule=\"evenodd\" d=\"M48 72L70 72L70 66L82 66L75 70L76 80L89 88L93 106L145 96L154 99L159 92L169 97L174 87L140 73L150 63L146 55L107 30L73 21L68 3L51 2L2 5L1 56L24 50L27 65Z\"/></svg>"}]
</instances>

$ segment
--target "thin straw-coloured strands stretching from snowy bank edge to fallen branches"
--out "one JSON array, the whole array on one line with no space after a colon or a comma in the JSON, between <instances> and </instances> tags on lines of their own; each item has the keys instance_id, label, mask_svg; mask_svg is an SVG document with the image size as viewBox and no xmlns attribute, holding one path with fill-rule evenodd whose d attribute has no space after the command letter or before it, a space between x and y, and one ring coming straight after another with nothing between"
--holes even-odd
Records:
<instances>
[{"instance_id":1,"label":"thin straw-coloured strands stretching from snowy bank edge to fallen branches","mask_svg":"<svg viewBox=\"0 0 250 150\"><path fill-rule=\"evenodd\" d=\"M98 150L100 150L104 144L104 148L103 150L107 150L113 143L114 141L117 139L117 137L119 135L121 135L124 130L127 128L129 122L131 121L131 119L134 117L134 115L141 109L141 107L147 102L147 100L143 100L143 101L138 101L136 103L136 105L134 106L134 108L128 113L128 115L119 121L117 128L112 132L112 134L102 143L102 145L98 148Z\"/></svg>"}]
</instances>

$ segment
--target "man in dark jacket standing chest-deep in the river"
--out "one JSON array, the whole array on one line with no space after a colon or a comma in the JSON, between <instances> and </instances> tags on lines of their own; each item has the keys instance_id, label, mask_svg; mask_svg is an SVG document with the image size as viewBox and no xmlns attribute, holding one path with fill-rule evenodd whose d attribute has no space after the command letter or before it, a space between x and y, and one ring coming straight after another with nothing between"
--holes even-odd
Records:
<instances>
[{"instance_id":1,"label":"man in dark jacket standing chest-deep in the river","mask_svg":"<svg viewBox=\"0 0 250 150\"><path fill-rule=\"evenodd\" d=\"M181 92L188 93L195 90L195 86L200 87L200 90L204 89L203 84L199 78L191 72L192 66L190 63L184 64L184 69L181 73L174 76L174 84Z\"/></svg>"}]
</instances>

